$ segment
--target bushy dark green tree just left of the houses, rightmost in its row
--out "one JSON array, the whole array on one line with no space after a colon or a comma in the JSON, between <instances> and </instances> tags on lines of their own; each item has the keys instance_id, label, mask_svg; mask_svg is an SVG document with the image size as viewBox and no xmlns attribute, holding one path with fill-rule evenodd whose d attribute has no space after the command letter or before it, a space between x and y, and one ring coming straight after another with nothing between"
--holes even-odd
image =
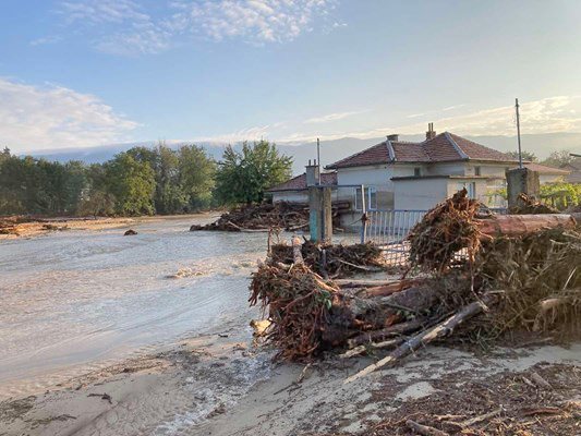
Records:
<instances>
[{"instance_id":1,"label":"bushy dark green tree just left of the houses, rightmost in its row","mask_svg":"<svg viewBox=\"0 0 581 436\"><path fill-rule=\"evenodd\" d=\"M292 158L267 141L228 146L216 174L216 198L223 204L261 203L267 189L291 177Z\"/></svg>"}]
</instances>

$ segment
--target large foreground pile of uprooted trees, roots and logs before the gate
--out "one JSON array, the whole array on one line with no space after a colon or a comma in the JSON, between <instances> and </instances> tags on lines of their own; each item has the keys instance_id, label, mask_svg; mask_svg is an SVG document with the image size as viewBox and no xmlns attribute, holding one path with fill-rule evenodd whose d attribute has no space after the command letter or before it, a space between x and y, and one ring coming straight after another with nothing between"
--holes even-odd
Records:
<instances>
[{"instance_id":1,"label":"large foreground pile of uprooted trees, roots and logs before the gate","mask_svg":"<svg viewBox=\"0 0 581 436\"><path fill-rule=\"evenodd\" d=\"M291 247L276 245L253 275L250 303L267 313L267 340L278 358L392 349L346 380L353 382L455 330L474 341L511 329L580 334L581 233L574 219L482 218L479 209L461 191L416 225L410 264L423 276L413 279L329 280L319 274L319 247L301 246L298 239Z\"/></svg>"}]
</instances>

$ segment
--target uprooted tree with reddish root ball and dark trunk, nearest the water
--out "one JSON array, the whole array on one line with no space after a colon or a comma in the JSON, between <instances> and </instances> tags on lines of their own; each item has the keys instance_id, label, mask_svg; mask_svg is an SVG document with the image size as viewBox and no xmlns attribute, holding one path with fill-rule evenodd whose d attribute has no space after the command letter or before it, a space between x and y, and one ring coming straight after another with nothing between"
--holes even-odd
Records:
<instances>
[{"instance_id":1,"label":"uprooted tree with reddish root ball and dark trunk, nearest the water","mask_svg":"<svg viewBox=\"0 0 581 436\"><path fill-rule=\"evenodd\" d=\"M307 265L300 246L293 249L299 263L269 257L253 274L250 287L250 304L259 304L271 323L267 341L279 350L276 358L311 360L329 349L364 344L368 335L385 340L429 323L424 315L434 304L434 293L414 280L341 289Z\"/></svg>"}]
</instances>

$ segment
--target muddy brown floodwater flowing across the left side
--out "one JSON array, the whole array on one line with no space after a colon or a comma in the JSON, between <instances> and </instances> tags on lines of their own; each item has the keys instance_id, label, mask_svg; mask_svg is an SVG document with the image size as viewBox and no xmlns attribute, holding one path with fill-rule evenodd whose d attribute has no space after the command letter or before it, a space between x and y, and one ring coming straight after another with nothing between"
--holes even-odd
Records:
<instances>
[{"instance_id":1,"label":"muddy brown floodwater flowing across the left side","mask_svg":"<svg viewBox=\"0 0 581 436\"><path fill-rule=\"evenodd\" d=\"M194 221L0 242L0 398L222 324L247 326L266 234L190 232Z\"/></svg>"}]
</instances>

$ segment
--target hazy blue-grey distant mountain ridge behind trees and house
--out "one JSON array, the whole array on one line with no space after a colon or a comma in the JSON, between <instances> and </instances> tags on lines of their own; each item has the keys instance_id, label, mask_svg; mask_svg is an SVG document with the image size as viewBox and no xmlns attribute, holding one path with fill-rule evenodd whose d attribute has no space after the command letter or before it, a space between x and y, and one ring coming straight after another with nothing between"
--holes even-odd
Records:
<instances>
[{"instance_id":1,"label":"hazy blue-grey distant mountain ridge behind trees and house","mask_svg":"<svg viewBox=\"0 0 581 436\"><path fill-rule=\"evenodd\" d=\"M479 144L486 145L499 152L511 152L517 149L516 136L473 136L461 135ZM424 135L400 135L401 141L420 142L424 140ZM372 145L385 141L385 137L375 137L361 140L356 137L342 137L339 140L322 141L320 142L320 158L322 164L329 165L343 157L350 156L354 153L361 152ZM569 149L571 152L581 153L581 133L545 133L545 134L525 134L521 136L522 148L534 153L540 159L546 158L550 152ZM275 141L276 142L276 141ZM210 156L219 160L222 156L227 143L219 142L167 142L171 148L179 148L184 144L197 144L204 146ZM124 144L110 144L87 148L63 148L56 150L32 152L27 155L34 157L43 157L48 160L66 161L66 160L82 160L87 164L104 162L111 159L116 154L125 152L135 146L154 146L157 141L150 142L135 142ZM316 159L316 144L291 144L285 142L277 142L281 153L292 156L294 158L293 173L299 174L304 171L304 166L311 159ZM234 145L240 146L239 144Z\"/></svg>"}]
</instances>

